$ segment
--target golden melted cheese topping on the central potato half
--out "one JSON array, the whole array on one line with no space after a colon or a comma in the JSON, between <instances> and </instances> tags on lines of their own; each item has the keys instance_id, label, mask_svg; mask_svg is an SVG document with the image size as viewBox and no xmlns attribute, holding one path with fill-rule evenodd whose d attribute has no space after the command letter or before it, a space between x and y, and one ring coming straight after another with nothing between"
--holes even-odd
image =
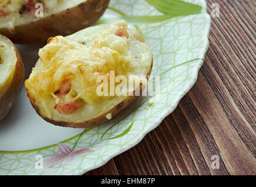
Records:
<instances>
[{"instance_id":1,"label":"golden melted cheese topping on the central potato half","mask_svg":"<svg viewBox=\"0 0 256 187\"><path fill-rule=\"evenodd\" d=\"M126 23L124 25L126 27ZM117 27L116 27L117 28ZM129 53L129 40L114 34L113 29L105 30L86 44L70 41L62 36L49 39L49 43L39 50L42 70L32 73L25 85L29 95L38 100L49 96L58 101L55 92L63 81L69 79L71 91L66 95L68 103L77 99L89 105L99 100L96 88L97 77L110 71L115 75L127 76L134 67Z\"/></svg>"}]
</instances>

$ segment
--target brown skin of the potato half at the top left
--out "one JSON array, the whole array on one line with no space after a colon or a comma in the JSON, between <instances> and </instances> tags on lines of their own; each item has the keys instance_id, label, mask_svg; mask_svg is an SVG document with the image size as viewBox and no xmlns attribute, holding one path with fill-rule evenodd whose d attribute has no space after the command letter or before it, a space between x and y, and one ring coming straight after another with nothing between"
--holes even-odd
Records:
<instances>
[{"instance_id":1,"label":"brown skin of the potato half at the top left","mask_svg":"<svg viewBox=\"0 0 256 187\"><path fill-rule=\"evenodd\" d=\"M67 36L92 26L106 11L109 0L87 0L73 8L16 26L13 30L0 28L0 33L15 43L32 43L49 37Z\"/></svg>"}]
</instances>

